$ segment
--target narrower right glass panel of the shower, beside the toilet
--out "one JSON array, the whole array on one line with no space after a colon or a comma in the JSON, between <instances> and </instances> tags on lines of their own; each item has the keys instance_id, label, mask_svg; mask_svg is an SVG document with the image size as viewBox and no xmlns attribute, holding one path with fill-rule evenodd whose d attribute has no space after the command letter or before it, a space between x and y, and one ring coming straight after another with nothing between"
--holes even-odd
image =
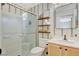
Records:
<instances>
[{"instance_id":1,"label":"narrower right glass panel of the shower, beside the toilet","mask_svg":"<svg viewBox=\"0 0 79 59\"><path fill-rule=\"evenodd\" d=\"M30 55L30 50L36 46L36 16L26 13L23 18L22 55Z\"/></svg>"}]
</instances>

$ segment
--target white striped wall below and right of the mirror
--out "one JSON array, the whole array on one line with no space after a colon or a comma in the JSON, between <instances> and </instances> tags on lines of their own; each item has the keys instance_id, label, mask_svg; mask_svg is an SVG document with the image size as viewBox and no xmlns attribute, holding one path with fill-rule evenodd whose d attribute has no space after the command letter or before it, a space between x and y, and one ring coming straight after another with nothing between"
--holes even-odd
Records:
<instances>
[{"instance_id":1,"label":"white striped wall below and right of the mirror","mask_svg":"<svg viewBox=\"0 0 79 59\"><path fill-rule=\"evenodd\" d=\"M63 6L64 4L59 4L57 6ZM56 7L57 7L56 6ZM78 10L79 10L79 4L78 4ZM79 16L79 12L78 12L78 16ZM79 23L79 17L78 17L78 23ZM71 36L71 29L64 29L63 30L63 35L66 34L67 36ZM75 34L77 34L79 36L79 24L78 24L78 28L73 29L73 36L75 36ZM56 36L62 36L62 32L61 29L55 29L55 35Z\"/></svg>"}]
</instances>

